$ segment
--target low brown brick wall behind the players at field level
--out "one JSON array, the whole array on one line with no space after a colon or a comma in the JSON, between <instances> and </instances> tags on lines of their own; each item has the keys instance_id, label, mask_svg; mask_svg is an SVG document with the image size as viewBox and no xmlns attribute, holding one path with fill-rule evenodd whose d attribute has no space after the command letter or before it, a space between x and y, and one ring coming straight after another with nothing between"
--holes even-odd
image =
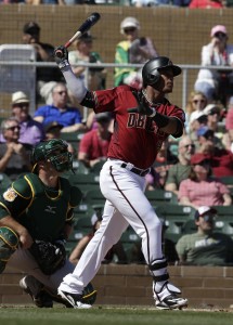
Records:
<instances>
[{"instance_id":1,"label":"low brown brick wall behind the players at field level","mask_svg":"<svg viewBox=\"0 0 233 325\"><path fill-rule=\"evenodd\" d=\"M171 282L182 289L191 308L229 308L233 304L233 268L169 266ZM18 287L23 273L0 275L0 304L31 303ZM102 265L92 281L96 304L153 306L152 278L146 265Z\"/></svg>"}]
</instances>

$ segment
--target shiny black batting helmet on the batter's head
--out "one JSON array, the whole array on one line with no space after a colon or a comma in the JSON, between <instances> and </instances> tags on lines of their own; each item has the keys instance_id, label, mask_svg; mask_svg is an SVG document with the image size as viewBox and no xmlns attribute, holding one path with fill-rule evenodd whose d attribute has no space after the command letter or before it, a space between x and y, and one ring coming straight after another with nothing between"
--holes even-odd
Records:
<instances>
[{"instance_id":1,"label":"shiny black batting helmet on the batter's head","mask_svg":"<svg viewBox=\"0 0 233 325\"><path fill-rule=\"evenodd\" d=\"M174 77L181 74L181 68L173 65L169 57L158 56L147 61L142 68L143 83L155 84L160 78L160 70L166 68L171 68Z\"/></svg>"}]
</instances>

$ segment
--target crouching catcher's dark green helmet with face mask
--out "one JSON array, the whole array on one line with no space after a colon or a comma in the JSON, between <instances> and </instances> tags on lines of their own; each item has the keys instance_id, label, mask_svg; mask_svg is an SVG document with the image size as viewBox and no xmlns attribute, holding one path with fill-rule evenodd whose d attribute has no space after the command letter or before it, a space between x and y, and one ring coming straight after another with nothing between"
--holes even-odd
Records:
<instances>
[{"instance_id":1,"label":"crouching catcher's dark green helmet with face mask","mask_svg":"<svg viewBox=\"0 0 233 325\"><path fill-rule=\"evenodd\" d=\"M49 160L55 170L63 172L73 168L73 155L68 145L60 139L38 143L31 153L33 172L36 172L38 161Z\"/></svg>"}]
</instances>

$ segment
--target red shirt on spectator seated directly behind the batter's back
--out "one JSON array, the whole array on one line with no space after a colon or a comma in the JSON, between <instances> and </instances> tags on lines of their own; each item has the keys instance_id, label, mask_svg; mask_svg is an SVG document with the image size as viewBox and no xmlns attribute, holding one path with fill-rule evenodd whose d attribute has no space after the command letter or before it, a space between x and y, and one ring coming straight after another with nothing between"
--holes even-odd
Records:
<instances>
[{"instance_id":1,"label":"red shirt on spectator seated directly behind the batter's back","mask_svg":"<svg viewBox=\"0 0 233 325\"><path fill-rule=\"evenodd\" d=\"M102 140L98 135L98 129L87 132L80 141L79 152L86 153L90 160L107 157L107 150L109 146L111 133L108 140Z\"/></svg>"}]
</instances>

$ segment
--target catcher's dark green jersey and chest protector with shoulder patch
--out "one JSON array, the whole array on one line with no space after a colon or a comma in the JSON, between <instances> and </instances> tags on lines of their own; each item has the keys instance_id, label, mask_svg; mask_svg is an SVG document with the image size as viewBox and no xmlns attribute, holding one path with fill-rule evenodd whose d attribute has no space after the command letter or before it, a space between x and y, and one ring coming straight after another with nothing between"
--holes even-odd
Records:
<instances>
[{"instance_id":1,"label":"catcher's dark green jersey and chest protector with shoulder patch","mask_svg":"<svg viewBox=\"0 0 233 325\"><path fill-rule=\"evenodd\" d=\"M59 179L59 188L51 188L28 173L1 194L0 218L12 216L34 239L56 240L65 224L73 223L73 210L81 197L80 190L64 178Z\"/></svg>"}]
</instances>

